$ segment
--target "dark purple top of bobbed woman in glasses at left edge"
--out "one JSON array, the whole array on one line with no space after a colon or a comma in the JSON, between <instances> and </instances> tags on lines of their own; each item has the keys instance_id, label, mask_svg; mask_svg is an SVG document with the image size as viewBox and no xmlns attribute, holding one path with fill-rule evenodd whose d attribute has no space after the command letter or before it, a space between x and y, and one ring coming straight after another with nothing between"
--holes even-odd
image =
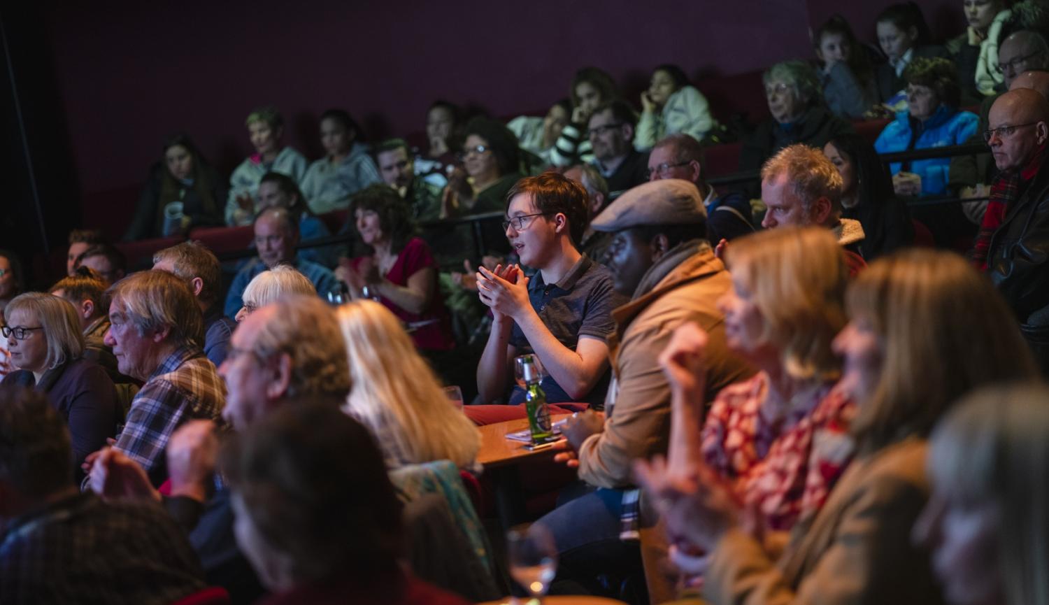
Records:
<instances>
[{"instance_id":1,"label":"dark purple top of bobbed woman in glasses at left edge","mask_svg":"<svg viewBox=\"0 0 1049 605\"><path fill-rule=\"evenodd\" d=\"M91 452L106 445L106 437L116 433L121 417L116 390L106 370L99 364L80 359L47 370L37 383L33 372L19 370L7 374L0 385L22 385L47 393L62 417L69 425L72 439L73 476L79 482L84 473L81 462Z\"/></svg>"}]
</instances>

